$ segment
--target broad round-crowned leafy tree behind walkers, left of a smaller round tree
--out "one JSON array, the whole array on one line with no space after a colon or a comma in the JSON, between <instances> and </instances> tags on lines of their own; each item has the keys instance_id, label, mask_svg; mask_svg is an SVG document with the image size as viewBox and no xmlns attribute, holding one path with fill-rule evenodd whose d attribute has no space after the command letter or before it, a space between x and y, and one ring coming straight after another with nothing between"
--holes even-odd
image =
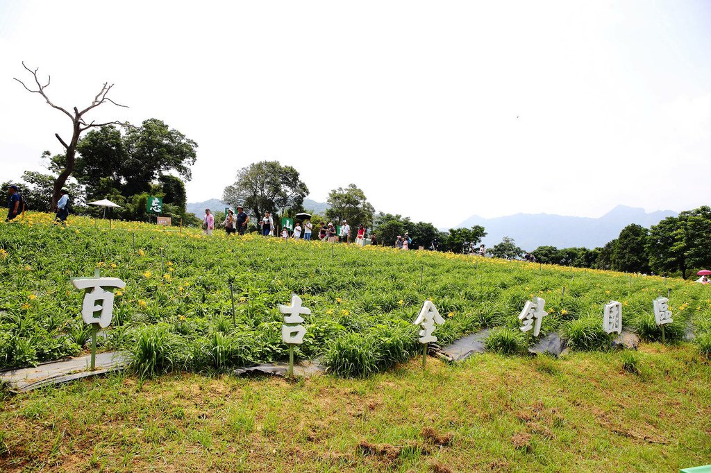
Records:
<instances>
[{"instance_id":1,"label":"broad round-crowned leafy tree behind walkers, left of a smaller round tree","mask_svg":"<svg viewBox=\"0 0 711 473\"><path fill-rule=\"evenodd\" d=\"M279 161L260 161L237 171L235 183L225 187L223 201L243 205L258 219L267 210L301 210L306 195L309 187L299 178L299 171Z\"/></svg>"}]
</instances>

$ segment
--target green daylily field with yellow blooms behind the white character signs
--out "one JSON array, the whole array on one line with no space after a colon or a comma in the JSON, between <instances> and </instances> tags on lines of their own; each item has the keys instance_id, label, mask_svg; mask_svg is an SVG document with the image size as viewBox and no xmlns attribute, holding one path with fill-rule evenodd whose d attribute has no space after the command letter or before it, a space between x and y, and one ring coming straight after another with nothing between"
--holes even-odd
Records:
<instances>
[{"instance_id":1,"label":"green daylily field with yellow blooms behind the white character signs","mask_svg":"<svg viewBox=\"0 0 711 473\"><path fill-rule=\"evenodd\" d=\"M661 340L652 300L670 290L666 342L693 332L700 352L711 355L710 288L689 281L220 231L204 237L134 222L109 229L107 221L80 217L57 227L52 217L30 213L1 227L0 369L87 350L83 291L70 278L95 269L126 282L114 290L100 349L129 352L140 376L286 359L277 307L292 293L311 309L297 359L322 357L346 377L421 353L412 322L427 299L445 319L434 332L439 343L491 327L488 349L513 354L525 351L517 316L533 297L546 300L549 314L541 335L558 332L572 350L585 351L609 344L602 310L610 300L622 303L626 330Z\"/></svg>"}]
</instances>

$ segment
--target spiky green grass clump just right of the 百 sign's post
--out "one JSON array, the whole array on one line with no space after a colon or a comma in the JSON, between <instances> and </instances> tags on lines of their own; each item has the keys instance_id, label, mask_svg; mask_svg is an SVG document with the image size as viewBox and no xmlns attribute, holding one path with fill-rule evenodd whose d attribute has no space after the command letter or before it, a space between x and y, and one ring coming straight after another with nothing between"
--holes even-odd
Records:
<instances>
[{"instance_id":1,"label":"spiky green grass clump just right of the \u767e sign's post","mask_svg":"<svg viewBox=\"0 0 711 473\"><path fill-rule=\"evenodd\" d=\"M185 342L168 325L149 325L136 334L130 366L141 378L150 378L181 368Z\"/></svg>"}]
</instances>

